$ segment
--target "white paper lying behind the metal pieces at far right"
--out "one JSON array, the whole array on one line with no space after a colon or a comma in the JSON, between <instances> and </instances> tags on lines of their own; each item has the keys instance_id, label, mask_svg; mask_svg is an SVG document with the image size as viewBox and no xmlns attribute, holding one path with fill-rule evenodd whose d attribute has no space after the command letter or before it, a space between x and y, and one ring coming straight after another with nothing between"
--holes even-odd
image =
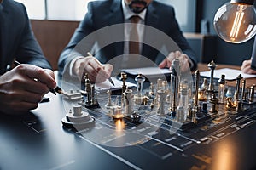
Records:
<instances>
[{"instance_id":1,"label":"white paper lying behind the metal pieces at far right","mask_svg":"<svg viewBox=\"0 0 256 170\"><path fill-rule=\"evenodd\" d=\"M256 77L256 75L245 74L245 73L241 72L240 70L224 68L224 69L215 70L213 78L220 78L222 74L225 75L226 80L236 80L236 77L238 77L239 74L241 74L241 76L243 78ZM200 73L200 76L201 77L211 77L211 71L202 71Z\"/></svg>"}]
</instances>

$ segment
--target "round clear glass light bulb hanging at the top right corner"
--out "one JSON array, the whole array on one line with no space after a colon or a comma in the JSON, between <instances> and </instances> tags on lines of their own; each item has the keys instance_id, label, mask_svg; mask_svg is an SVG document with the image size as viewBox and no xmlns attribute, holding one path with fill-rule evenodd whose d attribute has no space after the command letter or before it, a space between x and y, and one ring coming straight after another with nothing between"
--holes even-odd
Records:
<instances>
[{"instance_id":1,"label":"round clear glass light bulb hanging at the top right corner","mask_svg":"<svg viewBox=\"0 0 256 170\"><path fill-rule=\"evenodd\" d=\"M247 42L256 34L254 0L231 0L218 9L213 26L226 42Z\"/></svg>"}]
</instances>

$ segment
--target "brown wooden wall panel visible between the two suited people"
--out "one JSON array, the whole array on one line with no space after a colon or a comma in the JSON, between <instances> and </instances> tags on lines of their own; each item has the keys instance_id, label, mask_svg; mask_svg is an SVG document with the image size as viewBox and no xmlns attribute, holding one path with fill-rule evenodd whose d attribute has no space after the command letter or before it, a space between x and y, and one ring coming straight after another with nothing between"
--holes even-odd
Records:
<instances>
[{"instance_id":1,"label":"brown wooden wall panel visible between the two suited people","mask_svg":"<svg viewBox=\"0 0 256 170\"><path fill-rule=\"evenodd\" d=\"M57 70L61 51L79 26L79 21L31 20L31 23L44 55L49 59L53 69Z\"/></svg>"}]
</instances>

